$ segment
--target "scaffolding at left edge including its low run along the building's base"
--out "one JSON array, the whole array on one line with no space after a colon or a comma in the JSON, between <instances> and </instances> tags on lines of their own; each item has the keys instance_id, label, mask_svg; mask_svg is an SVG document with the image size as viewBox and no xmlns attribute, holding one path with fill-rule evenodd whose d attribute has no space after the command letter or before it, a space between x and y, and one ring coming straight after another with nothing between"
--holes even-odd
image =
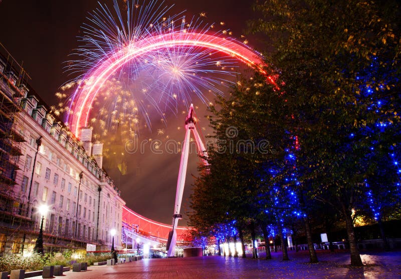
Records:
<instances>
[{"instance_id":1,"label":"scaffolding at left edge including its low run along the building's base","mask_svg":"<svg viewBox=\"0 0 401 279\"><path fill-rule=\"evenodd\" d=\"M39 235L41 220L29 200L33 174L24 175L28 169L33 170L32 161L26 162L24 143L28 137L25 117L30 112L23 111L22 104L28 92L34 91L28 79L22 65L0 43L0 255L29 254ZM75 225L78 235L73 233ZM87 243L107 247L95 234L94 227L77 224L74 219L63 222L60 217L56 219L56 214L50 214L43 227L43 244L47 251L86 250Z\"/></svg>"}]
</instances>

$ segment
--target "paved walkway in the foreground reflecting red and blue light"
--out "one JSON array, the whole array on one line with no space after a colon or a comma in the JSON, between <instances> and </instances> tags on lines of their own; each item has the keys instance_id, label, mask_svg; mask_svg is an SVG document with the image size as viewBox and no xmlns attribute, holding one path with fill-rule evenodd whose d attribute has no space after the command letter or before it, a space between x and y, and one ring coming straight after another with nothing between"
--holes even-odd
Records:
<instances>
[{"instance_id":1,"label":"paved walkway in the foreground reflecting red and blue light","mask_svg":"<svg viewBox=\"0 0 401 279\"><path fill-rule=\"evenodd\" d=\"M343 251L318 251L320 262L314 264L307 263L307 251L289 251L289 256L289 261L282 261L279 252L271 260L228 256L142 259L68 271L64 278L401 278L400 251L362 254L363 267L350 267L349 254Z\"/></svg>"}]
</instances>

